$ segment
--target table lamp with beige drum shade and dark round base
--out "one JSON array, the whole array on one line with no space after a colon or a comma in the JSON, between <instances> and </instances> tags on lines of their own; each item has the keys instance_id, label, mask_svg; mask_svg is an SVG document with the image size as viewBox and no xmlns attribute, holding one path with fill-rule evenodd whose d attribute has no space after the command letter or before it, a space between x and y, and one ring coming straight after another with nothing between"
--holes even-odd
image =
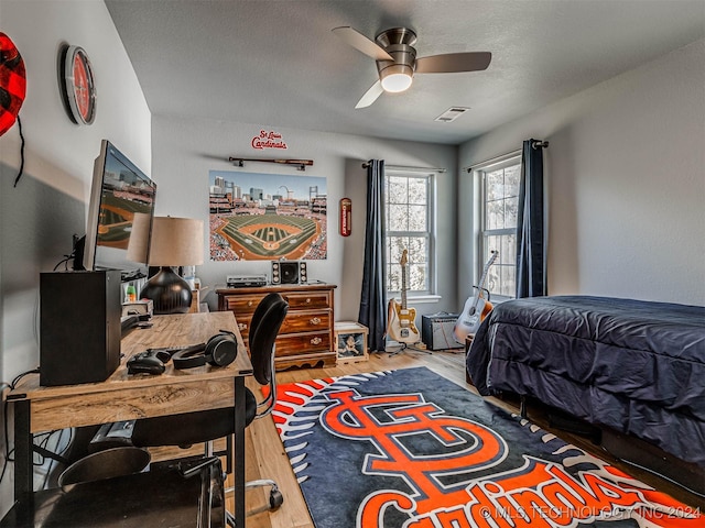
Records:
<instances>
[{"instance_id":1,"label":"table lamp with beige drum shade and dark round base","mask_svg":"<svg viewBox=\"0 0 705 528\"><path fill-rule=\"evenodd\" d=\"M172 266L200 265L203 252L203 220L154 217L149 265L161 270L140 293L140 298L152 299L154 314L186 314L191 309L191 286Z\"/></svg>"}]
</instances>

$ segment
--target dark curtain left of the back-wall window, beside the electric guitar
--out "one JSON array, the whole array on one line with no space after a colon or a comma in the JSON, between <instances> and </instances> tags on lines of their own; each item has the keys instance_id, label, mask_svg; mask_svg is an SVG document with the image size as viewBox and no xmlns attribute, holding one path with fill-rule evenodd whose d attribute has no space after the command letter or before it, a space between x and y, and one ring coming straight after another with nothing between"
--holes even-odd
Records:
<instances>
[{"instance_id":1,"label":"dark curtain left of the back-wall window, beside the electric guitar","mask_svg":"<svg viewBox=\"0 0 705 528\"><path fill-rule=\"evenodd\" d=\"M365 228L365 270L358 321L369 329L371 351L384 350L387 331L387 256L384 251L384 162L367 163L367 226Z\"/></svg>"}]
</instances>

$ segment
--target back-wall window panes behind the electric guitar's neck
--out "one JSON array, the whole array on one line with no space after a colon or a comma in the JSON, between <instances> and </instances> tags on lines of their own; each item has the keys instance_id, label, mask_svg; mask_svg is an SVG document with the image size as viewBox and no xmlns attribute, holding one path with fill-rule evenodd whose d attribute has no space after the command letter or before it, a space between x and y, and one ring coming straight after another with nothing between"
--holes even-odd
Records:
<instances>
[{"instance_id":1,"label":"back-wall window panes behind the electric guitar's neck","mask_svg":"<svg viewBox=\"0 0 705 528\"><path fill-rule=\"evenodd\" d=\"M401 292L401 257L408 250L406 290L431 294L432 284L432 184L430 174L405 174L387 169L384 175L384 223L387 228L387 289Z\"/></svg>"}]
</instances>

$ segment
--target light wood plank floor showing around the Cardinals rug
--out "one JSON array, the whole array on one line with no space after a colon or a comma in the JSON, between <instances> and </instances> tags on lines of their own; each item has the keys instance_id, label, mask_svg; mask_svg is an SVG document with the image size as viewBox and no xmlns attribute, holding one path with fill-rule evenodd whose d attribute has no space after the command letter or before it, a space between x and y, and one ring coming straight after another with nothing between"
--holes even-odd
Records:
<instances>
[{"instance_id":1,"label":"light wood plank floor showing around the Cardinals rug","mask_svg":"<svg viewBox=\"0 0 705 528\"><path fill-rule=\"evenodd\" d=\"M306 369L279 372L276 373L276 381L280 384L284 384L361 372L426 366L458 385L477 393L475 387L468 385L465 381L464 360L465 355L462 351L436 351L433 352L433 354L421 353L417 351L404 351L393 358L390 358L389 354L372 353L370 354L369 361L340 365L335 369ZM490 399L500 407L512 413L518 413L516 404L498 400L496 398ZM564 440L572 442L586 451L593 452L603 460L623 469L634 477L640 479L642 482L669 493L692 507L705 509L705 501L702 498L688 494L681 487L653 476L648 472L622 465L620 462L611 459L608 453L603 451L598 446L592 443L589 440L563 431L552 430L549 427L541 409L533 409L530 407L529 418L544 429L551 430ZM273 513L262 512L248 517L248 528L314 528L308 510L306 509L303 495L301 494L299 484L296 483L286 454L284 453L271 416L256 420L248 427L246 450L247 480L273 479L279 484L284 496L284 504L279 510ZM268 499L269 490L249 491L247 493L248 510L263 508L268 504ZM230 507L232 507L231 504Z\"/></svg>"}]
</instances>

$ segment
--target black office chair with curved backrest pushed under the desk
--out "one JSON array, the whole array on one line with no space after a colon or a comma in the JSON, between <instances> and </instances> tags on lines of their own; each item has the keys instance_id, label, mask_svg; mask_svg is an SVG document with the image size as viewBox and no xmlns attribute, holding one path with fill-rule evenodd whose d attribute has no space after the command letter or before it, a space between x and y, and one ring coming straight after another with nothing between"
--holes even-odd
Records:
<instances>
[{"instance_id":1,"label":"black office chair with curved backrest pushed under the desk","mask_svg":"<svg viewBox=\"0 0 705 528\"><path fill-rule=\"evenodd\" d=\"M249 426L256 418L269 415L276 400L274 341L286 317L289 304L279 294L270 294L262 299L260 305L264 301L267 302L261 310L259 310L259 306L256 309L257 321L250 327L249 344L254 380L262 386L269 386L269 395L262 402L258 402L254 394L246 388L246 426ZM254 316L252 320L254 321ZM232 425L234 413L234 408L229 407L137 420L132 431L132 444L139 448L184 447L229 437L235 432ZM248 482L246 490L261 486L271 487L269 509L279 508L283 503L283 496L274 481L259 480ZM230 492L230 490L226 492ZM229 514L228 522L232 524Z\"/></svg>"}]
</instances>

